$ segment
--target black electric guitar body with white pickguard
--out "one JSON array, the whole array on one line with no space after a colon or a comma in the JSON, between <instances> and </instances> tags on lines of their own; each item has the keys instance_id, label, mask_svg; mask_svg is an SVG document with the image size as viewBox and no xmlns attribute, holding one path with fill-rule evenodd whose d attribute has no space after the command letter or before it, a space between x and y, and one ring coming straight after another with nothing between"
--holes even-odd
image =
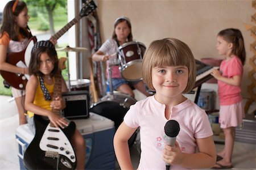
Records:
<instances>
[{"instance_id":1,"label":"black electric guitar body with white pickguard","mask_svg":"<svg viewBox=\"0 0 256 170\"><path fill-rule=\"evenodd\" d=\"M62 128L51 127L42 116L34 115L35 137L24 153L27 169L75 169L76 155L71 137L76 125L73 121Z\"/></svg>"}]
</instances>

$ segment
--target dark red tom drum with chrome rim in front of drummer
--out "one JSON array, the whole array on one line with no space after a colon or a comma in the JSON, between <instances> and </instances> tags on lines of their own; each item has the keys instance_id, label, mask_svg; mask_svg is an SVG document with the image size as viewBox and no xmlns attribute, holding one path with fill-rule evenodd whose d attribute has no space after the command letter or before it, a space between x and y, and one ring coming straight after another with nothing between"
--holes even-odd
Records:
<instances>
[{"instance_id":1,"label":"dark red tom drum with chrome rim in front of drummer","mask_svg":"<svg viewBox=\"0 0 256 170\"><path fill-rule=\"evenodd\" d=\"M121 75L129 82L142 79L142 58L146 46L141 42L126 42L118 48Z\"/></svg>"}]
</instances>

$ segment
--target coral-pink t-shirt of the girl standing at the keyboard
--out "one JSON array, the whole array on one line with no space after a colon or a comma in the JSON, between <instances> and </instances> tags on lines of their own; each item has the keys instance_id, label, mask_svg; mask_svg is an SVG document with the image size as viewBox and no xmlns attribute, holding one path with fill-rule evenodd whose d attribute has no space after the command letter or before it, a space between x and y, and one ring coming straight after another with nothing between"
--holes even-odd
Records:
<instances>
[{"instance_id":1,"label":"coral-pink t-shirt of the girl standing at the keyboard","mask_svg":"<svg viewBox=\"0 0 256 170\"><path fill-rule=\"evenodd\" d=\"M220 65L220 73L226 78L232 78L235 75L243 75L243 65L241 60L235 56L229 61L223 60ZM220 105L231 105L242 100L241 85L232 86L218 80L218 98Z\"/></svg>"}]
</instances>

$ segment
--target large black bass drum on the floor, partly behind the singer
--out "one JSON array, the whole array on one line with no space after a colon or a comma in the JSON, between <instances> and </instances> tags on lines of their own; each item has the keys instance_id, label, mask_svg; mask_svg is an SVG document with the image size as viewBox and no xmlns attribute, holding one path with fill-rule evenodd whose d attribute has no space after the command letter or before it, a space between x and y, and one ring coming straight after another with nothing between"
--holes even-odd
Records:
<instances>
[{"instance_id":1,"label":"large black bass drum on the floor, partly behind the singer","mask_svg":"<svg viewBox=\"0 0 256 170\"><path fill-rule=\"evenodd\" d=\"M117 130L130 105L135 104L136 101L133 97L122 93L106 95L92 105L90 112L109 118L114 122L115 130ZM133 146L136 137L137 131L129 139L129 147Z\"/></svg>"}]
</instances>

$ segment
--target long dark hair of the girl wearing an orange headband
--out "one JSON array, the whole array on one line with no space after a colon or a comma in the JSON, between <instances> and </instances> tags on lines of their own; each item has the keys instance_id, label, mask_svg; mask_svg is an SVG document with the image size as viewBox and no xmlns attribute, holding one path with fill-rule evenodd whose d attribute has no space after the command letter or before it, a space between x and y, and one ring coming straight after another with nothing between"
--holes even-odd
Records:
<instances>
[{"instance_id":1,"label":"long dark hair of the girl wearing an orange headband","mask_svg":"<svg viewBox=\"0 0 256 170\"><path fill-rule=\"evenodd\" d=\"M2 37L3 32L7 32L11 40L18 41L18 34L15 31L15 17L20 14L20 12L27 7L25 2L19 1L15 10L13 11L13 5L15 1L10 1L6 4L3 10L3 20L2 27L0 29L0 37ZM24 36L30 38L32 35L30 29L19 28L19 32Z\"/></svg>"}]
</instances>

